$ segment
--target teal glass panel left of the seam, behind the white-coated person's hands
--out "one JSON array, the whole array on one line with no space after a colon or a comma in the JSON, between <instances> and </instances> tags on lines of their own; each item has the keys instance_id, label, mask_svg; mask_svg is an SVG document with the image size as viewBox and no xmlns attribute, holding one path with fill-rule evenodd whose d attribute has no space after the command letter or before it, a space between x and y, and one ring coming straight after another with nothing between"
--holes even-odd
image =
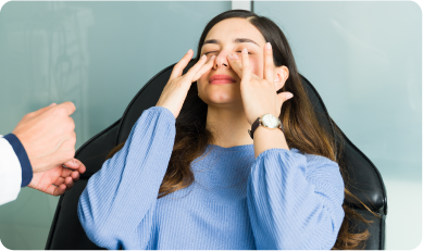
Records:
<instances>
[{"instance_id":1,"label":"teal glass panel left of the seam, behind the white-coated person's hands","mask_svg":"<svg viewBox=\"0 0 423 251\"><path fill-rule=\"evenodd\" d=\"M194 49L212 2L8 2L0 12L0 134L28 112L72 101L78 148L121 117L157 73ZM45 249L59 198L30 188L0 206L9 249Z\"/></svg>"}]
</instances>

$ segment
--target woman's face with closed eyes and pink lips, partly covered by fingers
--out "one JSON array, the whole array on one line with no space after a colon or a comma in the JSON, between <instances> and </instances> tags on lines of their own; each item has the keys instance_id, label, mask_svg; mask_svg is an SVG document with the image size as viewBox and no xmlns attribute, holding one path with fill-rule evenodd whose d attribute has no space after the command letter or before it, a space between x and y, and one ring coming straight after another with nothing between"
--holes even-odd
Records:
<instances>
[{"instance_id":1,"label":"woman's face with closed eyes and pink lips, partly covered by fingers","mask_svg":"<svg viewBox=\"0 0 423 251\"><path fill-rule=\"evenodd\" d=\"M247 48L252 73L263 77L264 37L245 18L228 18L214 25L206 37L201 53L208 59L215 55L214 66L197 80L200 98L207 104L241 104L240 77L232 70L227 55L239 59Z\"/></svg>"}]
</instances>

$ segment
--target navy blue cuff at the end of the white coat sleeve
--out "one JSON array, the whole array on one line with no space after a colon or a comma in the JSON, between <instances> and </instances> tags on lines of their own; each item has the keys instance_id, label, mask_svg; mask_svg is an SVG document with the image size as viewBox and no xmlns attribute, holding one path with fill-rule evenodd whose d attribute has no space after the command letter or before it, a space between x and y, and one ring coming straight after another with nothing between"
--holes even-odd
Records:
<instances>
[{"instance_id":1,"label":"navy blue cuff at the end of the white coat sleeve","mask_svg":"<svg viewBox=\"0 0 423 251\"><path fill-rule=\"evenodd\" d=\"M33 166L30 165L29 158L26 154L25 148L21 140L14 135L9 134L3 137L12 146L13 151L16 153L22 168L22 183L21 187L26 187L33 179Z\"/></svg>"}]
</instances>

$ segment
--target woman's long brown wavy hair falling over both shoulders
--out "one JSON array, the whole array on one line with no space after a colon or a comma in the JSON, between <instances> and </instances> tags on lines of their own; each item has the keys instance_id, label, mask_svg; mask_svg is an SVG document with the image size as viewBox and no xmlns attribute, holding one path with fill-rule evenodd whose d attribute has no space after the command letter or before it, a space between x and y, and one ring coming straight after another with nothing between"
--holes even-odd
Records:
<instances>
[{"instance_id":1,"label":"woman's long brown wavy hair falling over both shoulders","mask_svg":"<svg viewBox=\"0 0 423 251\"><path fill-rule=\"evenodd\" d=\"M341 149L336 145L335 137L319 124L311 102L302 87L288 41L279 27L271 20L244 10L232 10L215 16L207 24L201 34L195 61L199 60L199 53L210 29L219 22L234 17L246 18L256 26L263 35L265 41L272 45L274 64L276 66L285 65L289 70L288 79L284 87L277 91L289 91L294 93L294 99L284 103L279 115L289 148L296 148L302 153L321 155L337 162L341 154ZM194 174L190 170L191 162L203 155L209 143L214 143L212 133L206 128L208 105L197 93L197 85L192 84L181 113L176 118L175 143L167 171L159 189L158 198L165 197L176 190L190 186L194 181ZM124 143L116 146L107 159L112 158L114 153L123 148ZM348 178L346 177L346 167L339 162L337 163L339 164L340 173L347 187ZM371 223L356 213L346 203L352 202L357 204L357 201L373 215L378 216L345 188L345 201L343 204L345 217L336 243L333 247L334 250L364 248L364 241L370 236L369 230L357 233L348 221L358 219L365 224Z\"/></svg>"}]
</instances>

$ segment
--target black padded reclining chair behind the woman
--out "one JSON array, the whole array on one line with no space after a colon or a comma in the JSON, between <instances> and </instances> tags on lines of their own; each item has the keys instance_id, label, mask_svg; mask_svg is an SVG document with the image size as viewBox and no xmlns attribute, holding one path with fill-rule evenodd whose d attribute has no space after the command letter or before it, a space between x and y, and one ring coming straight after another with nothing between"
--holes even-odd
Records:
<instances>
[{"instance_id":1,"label":"black padded reclining chair behind the woman","mask_svg":"<svg viewBox=\"0 0 423 251\"><path fill-rule=\"evenodd\" d=\"M187 68L192 64L190 63ZM53 250L96 250L101 249L94 244L86 236L77 216L79 196L87 185L88 178L99 171L107 154L129 135L130 129L144 110L155 105L159 97L172 73L173 65L164 68L151 78L130 101L123 116L111 126L85 142L76 152L76 159L87 167L80 180L60 197L54 218L51 224L46 249ZM187 70L186 70L187 71ZM185 72L186 72L185 71ZM185 73L184 72L184 73ZM318 91L308 79L301 77L302 85L314 106L319 122L332 135L335 135L336 124L328 115ZM339 130L340 131L340 130ZM350 206L365 219L373 221L365 225L362 222L350 219L359 231L369 229L371 236L365 242L366 250L385 249L385 218L387 214L386 188L382 176L374 164L362 153L341 131L336 140L344 149L340 162L348 166L348 184L352 194L364 202L380 217L363 209L360 204L350 203Z\"/></svg>"}]
</instances>

